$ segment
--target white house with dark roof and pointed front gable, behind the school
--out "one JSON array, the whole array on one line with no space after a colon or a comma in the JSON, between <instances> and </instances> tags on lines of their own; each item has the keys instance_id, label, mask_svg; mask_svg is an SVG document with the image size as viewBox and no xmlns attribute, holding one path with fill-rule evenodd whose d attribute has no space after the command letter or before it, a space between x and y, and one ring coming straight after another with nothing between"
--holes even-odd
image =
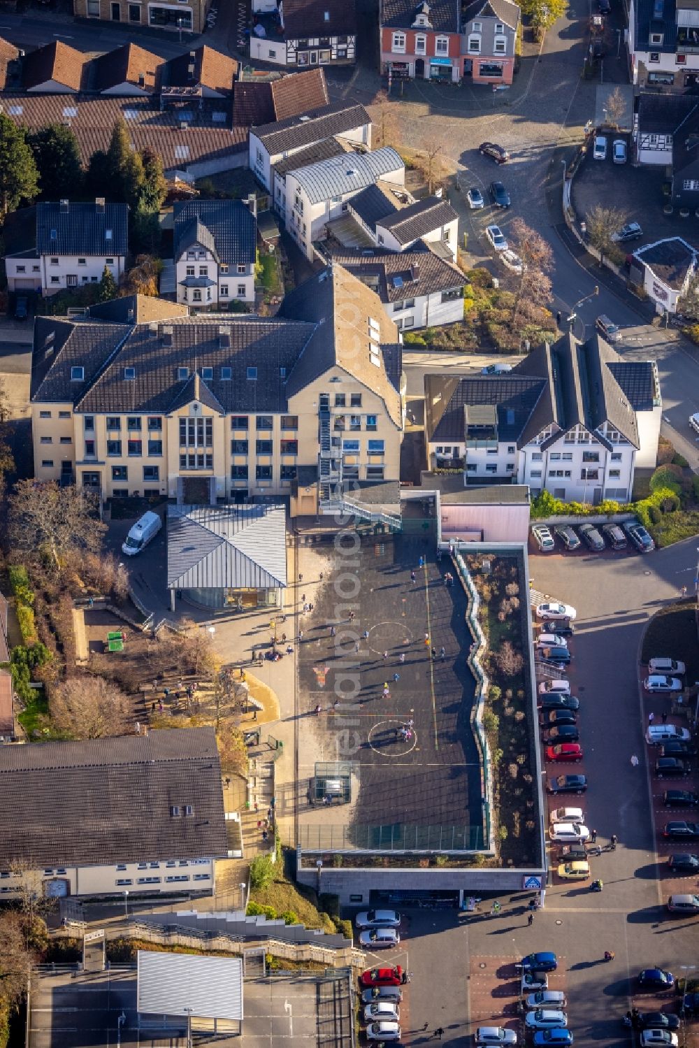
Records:
<instances>
[{"instance_id":1,"label":"white house with dark roof and pointed front gable, behind the school","mask_svg":"<svg viewBox=\"0 0 699 1048\"><path fill-rule=\"evenodd\" d=\"M177 302L197 309L255 302L257 221L240 200L174 205Z\"/></svg>"}]
</instances>

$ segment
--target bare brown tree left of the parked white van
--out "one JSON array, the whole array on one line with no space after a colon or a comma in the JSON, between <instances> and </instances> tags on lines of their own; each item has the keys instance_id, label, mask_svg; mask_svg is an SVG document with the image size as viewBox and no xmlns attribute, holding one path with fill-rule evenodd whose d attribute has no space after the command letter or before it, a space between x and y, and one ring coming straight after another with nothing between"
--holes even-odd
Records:
<instances>
[{"instance_id":1,"label":"bare brown tree left of the parked white van","mask_svg":"<svg viewBox=\"0 0 699 1048\"><path fill-rule=\"evenodd\" d=\"M96 496L86 488L20 480L9 502L10 534L20 549L45 552L57 567L71 550L100 549L106 529L97 518Z\"/></svg>"}]
</instances>

